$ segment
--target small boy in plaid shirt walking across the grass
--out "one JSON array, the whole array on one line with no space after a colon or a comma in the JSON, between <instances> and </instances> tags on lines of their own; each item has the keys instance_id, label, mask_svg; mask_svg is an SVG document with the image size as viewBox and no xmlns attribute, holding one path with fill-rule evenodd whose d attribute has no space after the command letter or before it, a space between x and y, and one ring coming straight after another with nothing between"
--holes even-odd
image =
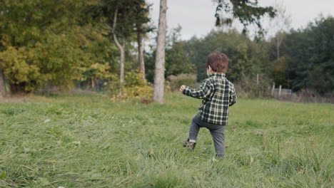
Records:
<instances>
[{"instance_id":1,"label":"small boy in plaid shirt walking across the grass","mask_svg":"<svg viewBox=\"0 0 334 188\"><path fill-rule=\"evenodd\" d=\"M183 147L193 150L201 127L211 132L216 157L223 159L225 153L225 125L228 123L228 107L236 103L236 90L225 77L228 57L224 53L213 52L206 58L206 78L198 89L182 85L180 92L193 98L203 99L198 114L193 117L189 137Z\"/></svg>"}]
</instances>

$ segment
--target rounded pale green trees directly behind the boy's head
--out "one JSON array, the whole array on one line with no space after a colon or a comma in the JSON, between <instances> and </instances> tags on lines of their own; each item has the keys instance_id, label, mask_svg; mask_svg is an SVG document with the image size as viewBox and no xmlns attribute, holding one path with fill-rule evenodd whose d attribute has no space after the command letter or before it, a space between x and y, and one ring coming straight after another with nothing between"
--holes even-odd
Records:
<instances>
[{"instance_id":1,"label":"rounded pale green trees directly behind the boy's head","mask_svg":"<svg viewBox=\"0 0 334 188\"><path fill-rule=\"evenodd\" d=\"M231 30L228 32L211 31L205 38L191 38L187 44L187 54L192 54L191 62L198 67L197 80L206 75L206 57L213 51L221 51L228 56L227 78L232 82L257 73L270 73L270 62L265 43L255 43L247 36Z\"/></svg>"}]
</instances>

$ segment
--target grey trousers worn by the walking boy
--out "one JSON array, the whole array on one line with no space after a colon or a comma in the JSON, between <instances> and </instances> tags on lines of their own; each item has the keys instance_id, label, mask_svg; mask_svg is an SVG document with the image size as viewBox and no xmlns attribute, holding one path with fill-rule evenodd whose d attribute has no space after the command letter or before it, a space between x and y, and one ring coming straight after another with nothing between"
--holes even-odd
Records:
<instances>
[{"instance_id":1,"label":"grey trousers worn by the walking boy","mask_svg":"<svg viewBox=\"0 0 334 188\"><path fill-rule=\"evenodd\" d=\"M211 132L215 145L216 157L223 158L225 154L225 125L216 125L201 120L198 115L193 117L189 131L189 140L196 140L201 127L206 127Z\"/></svg>"}]
</instances>

